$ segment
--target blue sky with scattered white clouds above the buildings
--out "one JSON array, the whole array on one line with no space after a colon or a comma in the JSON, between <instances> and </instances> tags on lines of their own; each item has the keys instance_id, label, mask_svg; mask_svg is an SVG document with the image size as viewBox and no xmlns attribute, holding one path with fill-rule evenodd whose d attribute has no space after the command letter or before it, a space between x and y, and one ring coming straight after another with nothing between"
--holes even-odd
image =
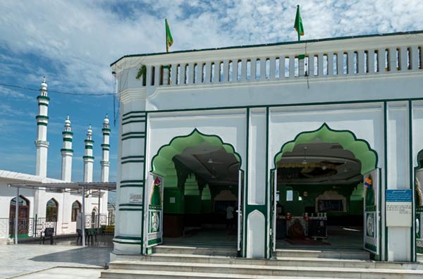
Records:
<instances>
[{"instance_id":1,"label":"blue sky with scattered white clouds above the buildings","mask_svg":"<svg viewBox=\"0 0 423 279\"><path fill-rule=\"evenodd\" d=\"M93 127L94 180L100 178L102 120L111 118L111 172L116 180L118 125L109 64L126 54L165 51L164 18L171 51L286 42L301 6L302 39L423 30L421 1L0 1L0 83L49 92L47 175L61 176L61 131L71 116L73 180L82 180L85 134ZM0 169L35 173L38 92L0 85Z\"/></svg>"}]
</instances>

